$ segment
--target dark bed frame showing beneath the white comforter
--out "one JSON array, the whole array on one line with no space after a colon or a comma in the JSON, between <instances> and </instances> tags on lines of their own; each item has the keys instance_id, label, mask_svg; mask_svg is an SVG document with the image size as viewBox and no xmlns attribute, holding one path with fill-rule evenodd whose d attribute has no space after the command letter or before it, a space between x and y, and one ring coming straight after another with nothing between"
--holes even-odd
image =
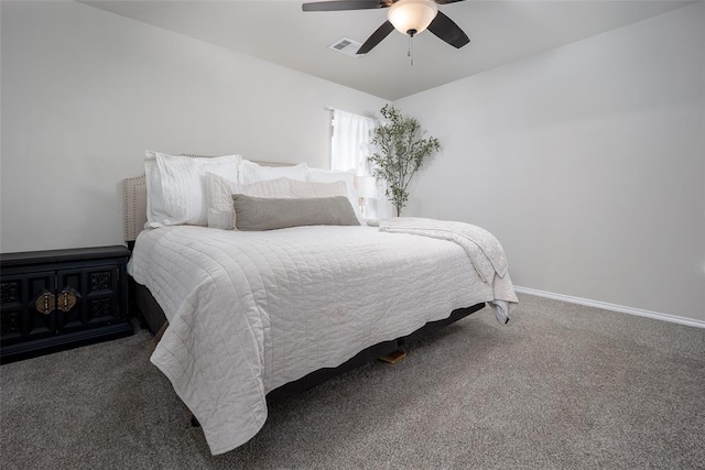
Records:
<instances>
[{"instance_id":1,"label":"dark bed frame showing beneath the white comforter","mask_svg":"<svg viewBox=\"0 0 705 470\"><path fill-rule=\"evenodd\" d=\"M164 310L162 310L160 305L156 303L152 293L143 285L135 283L132 278L130 278L130 289L132 311L137 310L142 326L144 328L149 328L152 335L155 335L155 339L159 340L162 328L166 325ZM289 398L299 393L305 392L308 389L313 389L328 379L333 379L336 375L340 375L345 372L351 371L352 369L373 362L380 357L390 354L398 350L403 350L406 345L427 338L436 330L463 319L482 307L485 307L485 303L476 304L467 308L458 308L453 310L451 316L447 318L437 321L429 321L410 335L371 346L358 352L355 357L348 359L337 368L318 369L294 382L285 383L267 394L267 403L271 404Z\"/></svg>"}]
</instances>

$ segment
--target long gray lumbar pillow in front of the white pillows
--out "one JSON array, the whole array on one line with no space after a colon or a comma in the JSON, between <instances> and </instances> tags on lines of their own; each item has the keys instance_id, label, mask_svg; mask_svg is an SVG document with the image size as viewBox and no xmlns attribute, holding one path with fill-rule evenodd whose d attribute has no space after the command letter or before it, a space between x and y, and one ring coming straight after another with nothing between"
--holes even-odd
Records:
<instances>
[{"instance_id":1,"label":"long gray lumbar pillow in front of the white pillows","mask_svg":"<svg viewBox=\"0 0 705 470\"><path fill-rule=\"evenodd\" d=\"M234 194L232 201L238 230L360 225L345 196L283 199Z\"/></svg>"}]
</instances>

